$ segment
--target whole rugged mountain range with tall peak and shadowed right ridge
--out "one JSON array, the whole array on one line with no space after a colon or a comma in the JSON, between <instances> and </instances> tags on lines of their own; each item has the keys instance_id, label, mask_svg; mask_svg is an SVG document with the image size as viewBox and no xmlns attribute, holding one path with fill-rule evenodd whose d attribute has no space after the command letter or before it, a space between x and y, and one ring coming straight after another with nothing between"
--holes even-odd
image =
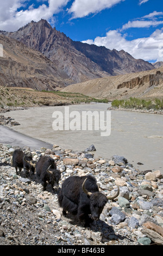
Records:
<instances>
[{"instance_id":1,"label":"whole rugged mountain range with tall peak and shadowed right ridge","mask_svg":"<svg viewBox=\"0 0 163 256\"><path fill-rule=\"evenodd\" d=\"M151 63L135 59L123 50L111 51L73 41L46 20L32 21L16 32L0 31L0 34L40 51L54 63L62 78L70 78L75 83L154 68Z\"/></svg>"}]
</instances>

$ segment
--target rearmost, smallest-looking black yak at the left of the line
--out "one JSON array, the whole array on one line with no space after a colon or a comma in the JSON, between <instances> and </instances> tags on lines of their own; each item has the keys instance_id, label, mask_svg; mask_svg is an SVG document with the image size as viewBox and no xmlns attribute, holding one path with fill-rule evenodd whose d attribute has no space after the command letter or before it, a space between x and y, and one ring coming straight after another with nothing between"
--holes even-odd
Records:
<instances>
[{"instance_id":1,"label":"rearmost, smallest-looking black yak at the left of the line","mask_svg":"<svg viewBox=\"0 0 163 256\"><path fill-rule=\"evenodd\" d=\"M23 168L26 173L31 170L34 174L36 163L33 161L32 153L30 151L23 152L21 149L15 149L12 154L11 166L15 167L17 175L17 168L20 172Z\"/></svg>"}]
</instances>

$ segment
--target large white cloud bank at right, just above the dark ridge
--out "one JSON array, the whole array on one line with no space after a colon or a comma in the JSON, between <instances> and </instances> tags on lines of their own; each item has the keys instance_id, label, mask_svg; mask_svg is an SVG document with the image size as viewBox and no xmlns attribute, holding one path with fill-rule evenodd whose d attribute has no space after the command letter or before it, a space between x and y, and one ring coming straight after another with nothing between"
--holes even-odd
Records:
<instances>
[{"instance_id":1,"label":"large white cloud bank at right, just above the dark ridge","mask_svg":"<svg viewBox=\"0 0 163 256\"><path fill-rule=\"evenodd\" d=\"M156 29L148 38L138 38L131 41L127 40L120 32L114 30L107 32L104 37L98 36L95 40L83 42L105 46L110 50L124 50L136 59L163 61L163 28Z\"/></svg>"}]
</instances>

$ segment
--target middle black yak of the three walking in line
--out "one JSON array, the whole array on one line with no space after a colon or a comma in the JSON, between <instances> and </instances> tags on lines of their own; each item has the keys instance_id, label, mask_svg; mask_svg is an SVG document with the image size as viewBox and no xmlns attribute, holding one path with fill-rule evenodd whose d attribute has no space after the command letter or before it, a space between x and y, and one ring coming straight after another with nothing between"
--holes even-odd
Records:
<instances>
[{"instance_id":1,"label":"middle black yak of the three walking in line","mask_svg":"<svg viewBox=\"0 0 163 256\"><path fill-rule=\"evenodd\" d=\"M58 188L61 173L52 157L40 157L36 164L36 177L41 182L43 190L46 190L47 181L51 184L53 191L54 186Z\"/></svg>"}]
</instances>

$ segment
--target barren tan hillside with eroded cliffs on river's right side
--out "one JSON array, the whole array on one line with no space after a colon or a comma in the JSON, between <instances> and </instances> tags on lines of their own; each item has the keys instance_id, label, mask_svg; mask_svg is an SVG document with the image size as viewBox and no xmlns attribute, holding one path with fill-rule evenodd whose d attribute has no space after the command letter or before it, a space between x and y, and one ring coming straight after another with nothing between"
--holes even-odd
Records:
<instances>
[{"instance_id":1,"label":"barren tan hillside with eroded cliffs on river's right side","mask_svg":"<svg viewBox=\"0 0 163 256\"><path fill-rule=\"evenodd\" d=\"M71 84L62 92L83 93L92 97L128 99L163 97L163 66L158 69Z\"/></svg>"}]
</instances>

